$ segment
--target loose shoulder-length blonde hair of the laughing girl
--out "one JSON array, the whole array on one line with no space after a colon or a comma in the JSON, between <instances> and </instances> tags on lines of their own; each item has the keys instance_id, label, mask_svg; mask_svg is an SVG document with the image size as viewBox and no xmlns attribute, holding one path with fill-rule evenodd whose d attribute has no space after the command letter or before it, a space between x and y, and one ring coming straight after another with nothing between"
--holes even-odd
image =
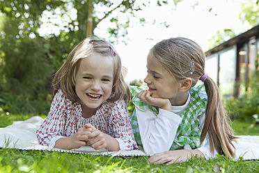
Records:
<instances>
[{"instance_id":1,"label":"loose shoulder-length blonde hair of the laughing girl","mask_svg":"<svg viewBox=\"0 0 259 173\"><path fill-rule=\"evenodd\" d=\"M130 89L123 77L120 57L111 44L97 38L85 38L70 52L68 59L54 76L52 82L54 93L61 89L72 102L79 102L79 97L75 92L77 70L79 69L81 59L88 58L94 53L102 54L104 58L111 56L114 60L113 87L111 96L107 101L115 102L116 100L123 99L125 103L129 103ZM98 65L96 64L96 66Z\"/></svg>"}]
</instances>

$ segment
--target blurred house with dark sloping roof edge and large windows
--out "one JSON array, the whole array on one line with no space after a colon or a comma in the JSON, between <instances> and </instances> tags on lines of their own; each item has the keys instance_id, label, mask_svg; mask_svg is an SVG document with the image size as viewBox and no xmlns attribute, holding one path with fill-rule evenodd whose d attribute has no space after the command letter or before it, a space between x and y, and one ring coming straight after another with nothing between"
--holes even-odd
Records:
<instances>
[{"instance_id":1,"label":"blurred house with dark sloping roof edge and large windows","mask_svg":"<svg viewBox=\"0 0 259 173\"><path fill-rule=\"evenodd\" d=\"M237 98L249 89L259 70L259 25L205 52L205 73L219 86L223 98Z\"/></svg>"}]
</instances>

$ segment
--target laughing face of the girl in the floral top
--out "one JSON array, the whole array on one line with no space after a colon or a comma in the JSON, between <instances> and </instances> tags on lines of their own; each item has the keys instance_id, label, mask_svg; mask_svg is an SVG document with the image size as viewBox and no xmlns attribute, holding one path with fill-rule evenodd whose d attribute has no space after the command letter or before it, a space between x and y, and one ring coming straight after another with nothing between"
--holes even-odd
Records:
<instances>
[{"instance_id":1,"label":"laughing face of the girl in the floral top","mask_svg":"<svg viewBox=\"0 0 259 173\"><path fill-rule=\"evenodd\" d=\"M98 53L81 59L75 90L83 111L95 112L111 96L113 66L113 57L103 57Z\"/></svg>"}]
</instances>

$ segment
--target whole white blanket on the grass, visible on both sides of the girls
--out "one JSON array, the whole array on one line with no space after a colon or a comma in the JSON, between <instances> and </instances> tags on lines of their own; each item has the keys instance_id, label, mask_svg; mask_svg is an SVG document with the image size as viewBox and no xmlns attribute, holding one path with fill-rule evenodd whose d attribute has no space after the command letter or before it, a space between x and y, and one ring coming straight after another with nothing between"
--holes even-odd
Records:
<instances>
[{"instance_id":1,"label":"whole white blanket on the grass, visible on both sides of the girls","mask_svg":"<svg viewBox=\"0 0 259 173\"><path fill-rule=\"evenodd\" d=\"M95 153L101 155L113 156L148 156L143 150L109 152L105 149L96 151L90 146L84 146L79 149L62 150L52 149L48 146L38 144L36 130L39 128L43 119L40 116L33 116L25 121L14 121L12 125L6 128L0 128L0 147L16 148L22 150L47 150L62 151L73 153ZM259 136L237 136L236 156L244 160L259 159Z\"/></svg>"}]
</instances>

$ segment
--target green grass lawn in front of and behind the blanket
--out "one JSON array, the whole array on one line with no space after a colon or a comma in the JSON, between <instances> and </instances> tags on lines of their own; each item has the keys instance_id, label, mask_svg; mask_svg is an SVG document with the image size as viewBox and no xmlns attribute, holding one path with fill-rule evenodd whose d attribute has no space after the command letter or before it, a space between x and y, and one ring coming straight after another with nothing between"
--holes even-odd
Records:
<instances>
[{"instance_id":1,"label":"green grass lawn in front of and behind the blanket","mask_svg":"<svg viewBox=\"0 0 259 173\"><path fill-rule=\"evenodd\" d=\"M24 115L1 115L0 127L13 121L29 119ZM44 116L42 116L44 117ZM236 135L258 135L258 126L235 120ZM148 157L112 157L58 151L0 149L1 172L258 172L258 160L229 160L223 156L211 160L191 158L185 163L156 165Z\"/></svg>"}]
</instances>

